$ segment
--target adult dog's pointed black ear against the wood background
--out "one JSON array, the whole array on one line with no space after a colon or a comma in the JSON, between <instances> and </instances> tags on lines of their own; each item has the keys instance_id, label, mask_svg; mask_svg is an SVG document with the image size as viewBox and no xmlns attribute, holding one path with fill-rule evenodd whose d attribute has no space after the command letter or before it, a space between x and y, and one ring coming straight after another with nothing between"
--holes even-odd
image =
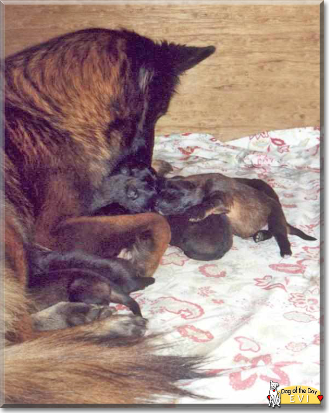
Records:
<instances>
[{"instance_id":1,"label":"adult dog's pointed black ear against the wood background","mask_svg":"<svg viewBox=\"0 0 329 413\"><path fill-rule=\"evenodd\" d=\"M177 74L181 74L185 70L194 67L202 60L207 59L216 50L215 46L195 47L176 45L174 43L170 43L168 48L170 61Z\"/></svg>"}]
</instances>

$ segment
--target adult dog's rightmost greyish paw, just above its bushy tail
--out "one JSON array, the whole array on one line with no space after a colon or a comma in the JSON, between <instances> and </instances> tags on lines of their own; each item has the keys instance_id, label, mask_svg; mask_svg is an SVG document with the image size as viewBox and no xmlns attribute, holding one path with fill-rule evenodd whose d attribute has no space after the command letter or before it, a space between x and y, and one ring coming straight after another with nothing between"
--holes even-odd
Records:
<instances>
[{"instance_id":1,"label":"adult dog's rightmost greyish paw, just above its bushy tail","mask_svg":"<svg viewBox=\"0 0 329 413\"><path fill-rule=\"evenodd\" d=\"M109 320L109 336L139 337L145 334L147 320L140 316L116 315Z\"/></svg>"}]
</instances>

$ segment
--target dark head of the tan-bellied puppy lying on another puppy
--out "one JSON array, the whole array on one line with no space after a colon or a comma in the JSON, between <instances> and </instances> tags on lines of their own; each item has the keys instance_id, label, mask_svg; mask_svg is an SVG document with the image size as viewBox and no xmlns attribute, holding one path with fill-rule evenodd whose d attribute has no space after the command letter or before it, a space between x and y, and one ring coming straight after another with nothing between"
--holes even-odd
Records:
<instances>
[{"instance_id":1,"label":"dark head of the tan-bellied puppy lying on another puppy","mask_svg":"<svg viewBox=\"0 0 329 413\"><path fill-rule=\"evenodd\" d=\"M162 215L176 215L199 202L195 183L184 179L162 179L154 209Z\"/></svg>"}]
</instances>

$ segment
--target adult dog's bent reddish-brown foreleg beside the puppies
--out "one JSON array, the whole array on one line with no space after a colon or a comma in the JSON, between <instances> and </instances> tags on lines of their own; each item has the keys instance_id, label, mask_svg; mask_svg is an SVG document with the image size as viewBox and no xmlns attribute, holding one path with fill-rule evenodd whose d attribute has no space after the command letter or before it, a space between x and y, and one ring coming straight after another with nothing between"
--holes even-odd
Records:
<instances>
[{"instance_id":1,"label":"adult dog's bent reddish-brown foreleg beside the puppies","mask_svg":"<svg viewBox=\"0 0 329 413\"><path fill-rule=\"evenodd\" d=\"M166 218L152 212L70 218L57 227L54 235L59 251L81 250L103 258L133 244L134 260L139 275L144 277L154 274L171 238Z\"/></svg>"}]
</instances>

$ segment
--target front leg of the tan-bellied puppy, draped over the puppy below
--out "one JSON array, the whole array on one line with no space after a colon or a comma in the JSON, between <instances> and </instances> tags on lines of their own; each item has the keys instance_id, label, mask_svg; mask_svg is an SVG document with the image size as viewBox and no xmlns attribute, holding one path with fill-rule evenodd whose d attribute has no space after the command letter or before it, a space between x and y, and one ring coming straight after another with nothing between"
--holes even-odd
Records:
<instances>
[{"instance_id":1,"label":"front leg of the tan-bellied puppy, draped over the puppy below","mask_svg":"<svg viewBox=\"0 0 329 413\"><path fill-rule=\"evenodd\" d=\"M212 214L225 214L230 212L232 205L231 196L221 192L214 192L211 197L205 198L201 204L189 208L185 214L192 222L201 221Z\"/></svg>"}]
</instances>

